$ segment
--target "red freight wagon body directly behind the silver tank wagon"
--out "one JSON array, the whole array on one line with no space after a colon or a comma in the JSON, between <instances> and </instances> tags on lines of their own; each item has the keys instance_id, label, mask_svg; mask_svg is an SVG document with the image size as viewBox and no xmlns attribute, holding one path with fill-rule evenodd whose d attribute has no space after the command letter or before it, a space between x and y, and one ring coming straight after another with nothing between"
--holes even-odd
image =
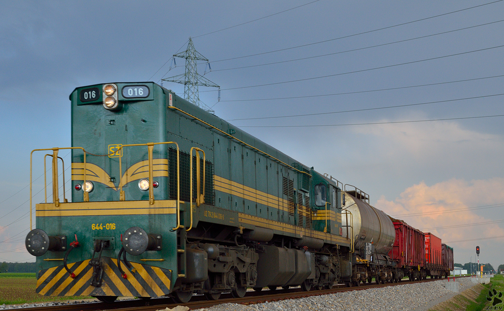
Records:
<instances>
[{"instance_id":1,"label":"red freight wagon body directly behind the silver tank wagon","mask_svg":"<svg viewBox=\"0 0 504 311\"><path fill-rule=\"evenodd\" d=\"M425 256L425 234L406 222L392 219L396 229L396 240L389 256L397 261L398 268L423 267Z\"/></svg>"}]
</instances>

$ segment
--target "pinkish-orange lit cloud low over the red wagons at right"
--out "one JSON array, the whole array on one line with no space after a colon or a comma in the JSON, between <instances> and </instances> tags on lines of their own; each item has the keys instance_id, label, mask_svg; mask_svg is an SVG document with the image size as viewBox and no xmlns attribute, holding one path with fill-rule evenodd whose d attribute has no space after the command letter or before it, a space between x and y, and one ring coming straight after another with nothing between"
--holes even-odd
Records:
<instances>
[{"instance_id":1,"label":"pinkish-orange lit cloud low over the red wagons at right","mask_svg":"<svg viewBox=\"0 0 504 311\"><path fill-rule=\"evenodd\" d=\"M444 243L448 242L448 245L456 249L456 262L465 263L469 261L470 256L474 258L474 247L480 245L482 250L486 250L485 261L491 261L492 265L498 266L502 256L492 250L501 250L502 247L495 246L504 244L504 239L470 240L504 236L504 222L463 225L504 219L503 188L504 178L470 182L450 179L432 186L420 182L405 189L394 200L387 200L382 196L376 207L415 228L432 232ZM440 228L446 226L456 227Z\"/></svg>"}]
</instances>

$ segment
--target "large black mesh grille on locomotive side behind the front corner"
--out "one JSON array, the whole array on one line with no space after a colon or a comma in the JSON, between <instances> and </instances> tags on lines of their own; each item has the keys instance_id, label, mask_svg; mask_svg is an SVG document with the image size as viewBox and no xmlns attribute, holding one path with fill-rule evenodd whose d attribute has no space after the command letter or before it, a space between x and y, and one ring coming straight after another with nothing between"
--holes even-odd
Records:
<instances>
[{"instance_id":1,"label":"large black mesh grille on locomotive side behind the front corner","mask_svg":"<svg viewBox=\"0 0 504 311\"><path fill-rule=\"evenodd\" d=\"M190 201L191 156L189 153L179 151L180 154L180 200ZM177 198L177 150L169 149L169 179L170 199ZM196 156L193 155L193 201L196 201ZM203 159L200 159L200 174L203 176ZM214 166L210 161L205 161L205 204L215 205L214 195Z\"/></svg>"}]
</instances>

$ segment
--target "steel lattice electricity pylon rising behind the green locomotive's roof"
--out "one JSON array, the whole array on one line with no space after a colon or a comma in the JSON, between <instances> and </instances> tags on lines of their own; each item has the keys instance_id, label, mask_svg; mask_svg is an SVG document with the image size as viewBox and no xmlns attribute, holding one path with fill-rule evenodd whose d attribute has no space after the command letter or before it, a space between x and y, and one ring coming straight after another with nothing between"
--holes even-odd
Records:
<instances>
[{"instance_id":1,"label":"steel lattice electricity pylon rising behind the green locomotive's roof","mask_svg":"<svg viewBox=\"0 0 504 311\"><path fill-rule=\"evenodd\" d=\"M220 88L212 81L206 79L203 75L198 74L196 61L204 60L208 62L208 59L196 51L191 37L189 38L189 43L187 43L187 49L178 54L174 54L173 56L185 58L185 73L163 79L163 81L183 84L185 100L195 104L205 111L213 113L214 111L200 100L200 93L198 91L199 86Z\"/></svg>"}]
</instances>

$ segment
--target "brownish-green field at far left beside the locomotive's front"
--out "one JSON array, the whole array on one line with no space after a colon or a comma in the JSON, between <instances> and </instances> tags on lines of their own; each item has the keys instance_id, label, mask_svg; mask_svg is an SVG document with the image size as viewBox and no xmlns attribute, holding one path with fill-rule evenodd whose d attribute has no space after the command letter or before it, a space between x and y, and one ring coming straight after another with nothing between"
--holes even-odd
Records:
<instances>
[{"instance_id":1,"label":"brownish-green field at far left beside the locomotive's front","mask_svg":"<svg viewBox=\"0 0 504 311\"><path fill-rule=\"evenodd\" d=\"M92 298L89 296L42 296L35 292L36 286L35 273L0 273L0 305Z\"/></svg>"}]
</instances>

